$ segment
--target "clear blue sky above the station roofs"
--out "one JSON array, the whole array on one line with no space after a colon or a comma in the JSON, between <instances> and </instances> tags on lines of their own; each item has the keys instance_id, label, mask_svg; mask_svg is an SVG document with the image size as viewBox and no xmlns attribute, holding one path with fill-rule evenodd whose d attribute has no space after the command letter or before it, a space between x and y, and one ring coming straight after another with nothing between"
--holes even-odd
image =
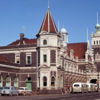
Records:
<instances>
[{"instance_id":1,"label":"clear blue sky above the station roofs","mask_svg":"<svg viewBox=\"0 0 100 100\"><path fill-rule=\"evenodd\" d=\"M69 43L86 42L95 33L96 14L100 23L100 0L49 0L59 30L68 31ZM36 38L48 9L48 0L0 0L0 46L19 39Z\"/></svg>"}]
</instances>

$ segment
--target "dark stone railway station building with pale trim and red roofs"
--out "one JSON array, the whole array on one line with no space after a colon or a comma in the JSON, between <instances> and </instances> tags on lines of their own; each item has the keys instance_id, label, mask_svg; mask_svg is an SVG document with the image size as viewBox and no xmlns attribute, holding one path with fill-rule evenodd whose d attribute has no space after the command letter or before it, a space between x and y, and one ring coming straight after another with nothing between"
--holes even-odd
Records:
<instances>
[{"instance_id":1,"label":"dark stone railway station building with pale trim and red roofs","mask_svg":"<svg viewBox=\"0 0 100 100\"><path fill-rule=\"evenodd\" d=\"M0 86L59 91L74 82L99 84L100 25L90 41L68 43L68 32L58 31L48 8L36 38L24 33L0 46ZM54 92L55 93L55 92Z\"/></svg>"}]
</instances>

